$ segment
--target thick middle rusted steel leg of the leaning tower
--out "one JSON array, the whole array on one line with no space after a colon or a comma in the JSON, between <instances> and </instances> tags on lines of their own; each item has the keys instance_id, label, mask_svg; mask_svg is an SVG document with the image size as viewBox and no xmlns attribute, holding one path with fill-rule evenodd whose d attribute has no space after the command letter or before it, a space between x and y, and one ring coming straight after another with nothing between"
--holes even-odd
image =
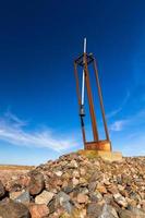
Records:
<instances>
[{"instance_id":1,"label":"thick middle rusted steel leg of the leaning tower","mask_svg":"<svg viewBox=\"0 0 145 218\"><path fill-rule=\"evenodd\" d=\"M94 141L98 142L99 138L98 138L94 102L93 102L93 96L92 96L92 89L90 89L89 74L88 74L88 69L87 69L86 53L84 53L84 71L85 71L85 84L86 84L86 89L87 89L87 97L88 97L88 105L89 105L89 112L90 112L90 120L92 120L92 128L93 128L93 136L94 136Z\"/></svg>"}]
</instances>

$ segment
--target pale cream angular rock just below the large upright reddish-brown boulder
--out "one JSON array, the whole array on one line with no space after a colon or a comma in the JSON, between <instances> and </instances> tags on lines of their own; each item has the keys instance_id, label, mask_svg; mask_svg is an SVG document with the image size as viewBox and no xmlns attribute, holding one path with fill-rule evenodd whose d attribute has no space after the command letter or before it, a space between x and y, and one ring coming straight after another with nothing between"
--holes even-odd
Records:
<instances>
[{"instance_id":1,"label":"pale cream angular rock just below the large upright reddish-brown boulder","mask_svg":"<svg viewBox=\"0 0 145 218\"><path fill-rule=\"evenodd\" d=\"M39 195L35 197L35 203L48 205L53 195L53 193L44 190Z\"/></svg>"}]
</instances>

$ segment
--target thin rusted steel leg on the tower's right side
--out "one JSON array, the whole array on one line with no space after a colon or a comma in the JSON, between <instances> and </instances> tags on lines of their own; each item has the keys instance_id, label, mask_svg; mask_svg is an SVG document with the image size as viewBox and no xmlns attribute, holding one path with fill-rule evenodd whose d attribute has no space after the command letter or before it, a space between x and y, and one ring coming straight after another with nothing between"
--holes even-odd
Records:
<instances>
[{"instance_id":1,"label":"thin rusted steel leg on the tower's right side","mask_svg":"<svg viewBox=\"0 0 145 218\"><path fill-rule=\"evenodd\" d=\"M100 83L99 83L99 77L98 77L98 70L97 70L97 64L96 64L96 60L95 59L94 59L93 64L94 64L95 76L96 76L96 82L97 82L97 88L98 88L100 109L101 109L101 114L102 114L105 132L106 132L106 138L107 138L107 141L110 141L109 132L108 132L108 128L107 128L106 116L105 116L105 108L104 108L104 104L102 104L102 94L101 94L101 88L100 88Z\"/></svg>"}]
</instances>

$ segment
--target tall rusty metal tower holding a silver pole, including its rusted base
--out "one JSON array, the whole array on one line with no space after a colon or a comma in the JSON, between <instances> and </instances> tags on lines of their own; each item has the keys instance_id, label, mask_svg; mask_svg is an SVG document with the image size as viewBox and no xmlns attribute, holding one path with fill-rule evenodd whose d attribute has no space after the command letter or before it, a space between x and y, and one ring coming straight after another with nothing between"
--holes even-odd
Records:
<instances>
[{"instance_id":1,"label":"tall rusty metal tower holding a silver pole, including its rusted base","mask_svg":"<svg viewBox=\"0 0 145 218\"><path fill-rule=\"evenodd\" d=\"M99 97L99 105L104 121L104 128L106 133L106 140L99 140L98 134L98 128L97 128L97 121L96 121L96 114L95 114L95 108L94 108L94 100L92 95L92 87L90 87L90 80L89 80L89 71L88 65L93 64L94 73L96 77L96 84L98 89L98 97ZM82 86L80 87L80 80L78 80L78 66L82 68ZM93 53L86 52L86 38L84 38L84 52L82 56L76 58L74 60L74 73L75 73L75 80L76 80L76 93L78 98L78 106L80 106L80 118L81 118L81 126L82 126L82 134L83 134L83 142L84 142L84 149L92 149L92 150L108 150L111 152L111 142L109 140L109 133L106 122L106 116L105 116L105 109L104 109L104 102L102 102L102 94L98 77L98 70L97 70L97 63L94 58ZM86 134L85 134L85 124L84 124L84 90L87 90L87 100L89 106L89 116L92 121L92 131L93 131L93 142L86 142ZM81 92L82 90L82 92Z\"/></svg>"}]
</instances>

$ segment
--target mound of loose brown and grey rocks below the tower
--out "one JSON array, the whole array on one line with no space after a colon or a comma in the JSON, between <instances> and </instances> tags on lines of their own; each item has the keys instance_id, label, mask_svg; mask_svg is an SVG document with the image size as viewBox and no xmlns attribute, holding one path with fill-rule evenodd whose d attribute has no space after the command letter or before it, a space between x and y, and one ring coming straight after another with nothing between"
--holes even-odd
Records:
<instances>
[{"instance_id":1,"label":"mound of loose brown and grey rocks below the tower","mask_svg":"<svg viewBox=\"0 0 145 218\"><path fill-rule=\"evenodd\" d=\"M0 182L0 218L145 218L145 157L60 157Z\"/></svg>"}]
</instances>

